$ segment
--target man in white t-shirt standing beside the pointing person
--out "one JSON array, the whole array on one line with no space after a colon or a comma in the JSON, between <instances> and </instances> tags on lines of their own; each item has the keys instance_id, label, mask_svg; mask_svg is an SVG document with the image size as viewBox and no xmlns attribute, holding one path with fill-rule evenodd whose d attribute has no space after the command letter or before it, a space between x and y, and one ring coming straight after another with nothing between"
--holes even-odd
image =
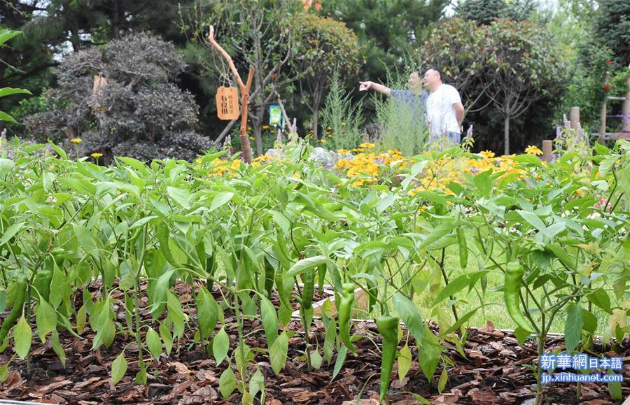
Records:
<instances>
[{"instance_id":1,"label":"man in white t-shirt standing beside the pointing person","mask_svg":"<svg viewBox=\"0 0 630 405\"><path fill-rule=\"evenodd\" d=\"M442 83L442 73L431 68L424 73L424 83L430 90L426 99L426 120L432 141L448 136L452 143L461 141L464 108L455 87Z\"/></svg>"}]
</instances>

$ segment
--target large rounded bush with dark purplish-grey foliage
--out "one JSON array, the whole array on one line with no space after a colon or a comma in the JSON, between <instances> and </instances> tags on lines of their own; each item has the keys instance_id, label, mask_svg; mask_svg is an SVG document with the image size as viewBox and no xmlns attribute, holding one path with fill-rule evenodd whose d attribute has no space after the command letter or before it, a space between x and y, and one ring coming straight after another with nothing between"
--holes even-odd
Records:
<instances>
[{"instance_id":1,"label":"large rounded bush with dark purplish-grey foliage","mask_svg":"<svg viewBox=\"0 0 630 405\"><path fill-rule=\"evenodd\" d=\"M172 82L186 65L170 43L134 34L69 55L57 71L57 88L46 93L48 111L30 115L32 134L64 139L79 155L104 154L149 160L194 159L209 149L194 131L199 108L193 95ZM94 76L106 84L94 91ZM71 138L80 143L70 144Z\"/></svg>"}]
</instances>

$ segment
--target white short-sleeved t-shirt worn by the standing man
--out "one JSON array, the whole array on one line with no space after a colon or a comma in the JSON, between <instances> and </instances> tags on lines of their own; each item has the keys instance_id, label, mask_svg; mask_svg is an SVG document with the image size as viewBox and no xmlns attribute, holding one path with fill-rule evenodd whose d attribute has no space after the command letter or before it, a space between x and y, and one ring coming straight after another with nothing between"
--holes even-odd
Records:
<instances>
[{"instance_id":1,"label":"white short-sleeved t-shirt worn by the standing man","mask_svg":"<svg viewBox=\"0 0 630 405\"><path fill-rule=\"evenodd\" d=\"M448 132L459 134L459 124L453 104L461 103L461 98L455 87L440 85L435 92L426 99L426 117L430 122L432 136L442 136Z\"/></svg>"}]
</instances>

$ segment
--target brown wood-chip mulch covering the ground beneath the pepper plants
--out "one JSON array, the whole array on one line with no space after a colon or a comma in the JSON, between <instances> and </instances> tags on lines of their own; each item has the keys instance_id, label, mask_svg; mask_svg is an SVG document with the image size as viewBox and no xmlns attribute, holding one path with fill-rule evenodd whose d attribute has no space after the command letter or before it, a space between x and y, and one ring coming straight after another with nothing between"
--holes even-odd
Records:
<instances>
[{"instance_id":1,"label":"brown wood-chip mulch covering the ground beneath the pepper plants","mask_svg":"<svg viewBox=\"0 0 630 405\"><path fill-rule=\"evenodd\" d=\"M190 289L179 286L184 308L195 320L191 303ZM221 294L214 290L217 299ZM122 293L120 293L122 294ZM80 294L78 294L80 296ZM325 298L319 295L316 298ZM276 301L276 300L272 300ZM145 302L146 305L146 302ZM119 306L116 311L120 320L125 319L125 309ZM146 311L141 311L148 315ZM6 315L5 315L6 316ZM148 322L148 316L146 316ZM232 349L237 342L235 318L225 315L226 332L230 335ZM194 322L193 322L194 325ZM35 325L32 325L34 328ZM435 331L435 325L431 325ZM246 322L246 331L258 329L246 339L250 348L266 348L264 332L260 320ZM275 376L266 355L256 353L255 362L265 376L266 404L348 404L356 403L363 389L359 404L378 404L380 353L372 341L379 342L374 322L359 321L353 325L353 334L368 336L356 342L358 355L348 354L344 367L334 381L332 364L323 361L322 367L307 372L307 364L299 360L304 350L304 339L299 320L292 320L286 327L295 331L289 340L289 353L286 367ZM311 327L311 341L317 336L323 342L324 329L320 320ZM146 386L134 385L133 378L138 371L137 345L129 334L118 334L113 346L92 351L94 333L85 328L82 339L60 332L62 346L66 350L64 368L48 341L42 344L34 339L31 348L31 374L27 373L25 360L13 360L8 369L8 378L0 384L0 399L13 399L48 404L237 404L240 402L238 390L225 400L219 391L219 377L226 367L224 361L218 367L214 357L207 355L198 344L193 343L194 330L187 330L185 336L176 343L169 357L162 354L148 369ZM624 383L622 397L630 396L630 341L623 342L620 353L605 353L608 356L624 357ZM401 342L402 343L402 342ZM449 345L449 343L446 343ZM412 342L409 342L409 347ZM563 346L561 339L548 339L546 350ZM111 384L111 363L126 347L129 363L127 374L116 386ZM596 343L596 353L604 350ZM519 346L510 333L493 329L491 323L483 328L468 329L468 340L464 346L466 357L461 356L454 346L447 346L447 355L455 363L448 369L448 382L444 391L437 392L437 369L433 381L427 381L416 362L417 352L412 349L414 362L407 376L392 381L391 403L398 405L417 404L409 394L428 399L432 404L531 404L534 397L534 377L528 367L537 361L536 346L528 341ZM321 352L320 352L321 353ZM4 364L13 355L9 347L0 355ZM397 367L394 366L394 371ZM367 384L366 384L366 381ZM364 388L365 385L365 388ZM617 402L618 403L618 402ZM576 398L575 383L556 383L545 388L545 404L615 404L610 399L604 383L583 383L582 398Z\"/></svg>"}]
</instances>

